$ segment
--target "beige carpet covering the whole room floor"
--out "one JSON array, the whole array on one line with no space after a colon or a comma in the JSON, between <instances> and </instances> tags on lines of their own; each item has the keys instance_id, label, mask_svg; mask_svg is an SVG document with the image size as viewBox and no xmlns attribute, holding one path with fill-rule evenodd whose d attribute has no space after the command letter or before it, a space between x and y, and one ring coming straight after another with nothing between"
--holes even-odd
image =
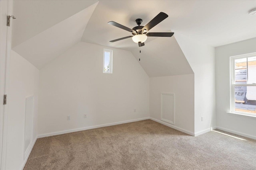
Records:
<instances>
[{"instance_id":1,"label":"beige carpet covering the whole room floor","mask_svg":"<svg viewBox=\"0 0 256 170\"><path fill-rule=\"evenodd\" d=\"M37 139L24 170L256 170L256 141L240 138L138 121Z\"/></svg>"}]
</instances>

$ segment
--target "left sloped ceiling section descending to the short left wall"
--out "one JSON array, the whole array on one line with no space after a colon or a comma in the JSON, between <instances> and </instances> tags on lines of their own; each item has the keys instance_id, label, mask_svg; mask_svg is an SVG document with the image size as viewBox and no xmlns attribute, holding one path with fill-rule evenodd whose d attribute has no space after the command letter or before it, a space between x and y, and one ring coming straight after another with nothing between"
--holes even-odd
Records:
<instances>
[{"instance_id":1,"label":"left sloped ceiling section descending to the short left wall","mask_svg":"<svg viewBox=\"0 0 256 170\"><path fill-rule=\"evenodd\" d=\"M38 69L81 40L84 29L98 2L46 29L12 50Z\"/></svg>"}]
</instances>

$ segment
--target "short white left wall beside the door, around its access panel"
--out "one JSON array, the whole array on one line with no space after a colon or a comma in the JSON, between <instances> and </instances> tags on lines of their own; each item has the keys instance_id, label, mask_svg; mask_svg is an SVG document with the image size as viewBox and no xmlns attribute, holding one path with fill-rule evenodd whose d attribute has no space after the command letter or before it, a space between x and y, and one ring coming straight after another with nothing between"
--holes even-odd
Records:
<instances>
[{"instance_id":1,"label":"short white left wall beside the door, around its access panel","mask_svg":"<svg viewBox=\"0 0 256 170\"><path fill-rule=\"evenodd\" d=\"M26 97L34 95L34 133L37 136L39 70L16 52L11 51L8 94L8 132L6 169L21 169L24 164L24 121Z\"/></svg>"}]
</instances>

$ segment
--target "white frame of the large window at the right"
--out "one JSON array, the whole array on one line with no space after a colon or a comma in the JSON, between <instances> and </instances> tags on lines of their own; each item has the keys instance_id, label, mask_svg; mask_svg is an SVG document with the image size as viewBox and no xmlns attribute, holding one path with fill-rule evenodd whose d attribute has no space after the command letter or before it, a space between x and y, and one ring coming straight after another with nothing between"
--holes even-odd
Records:
<instances>
[{"instance_id":1,"label":"white frame of the large window at the right","mask_svg":"<svg viewBox=\"0 0 256 170\"><path fill-rule=\"evenodd\" d=\"M238 114L242 114L242 115L256 116L255 113L247 113L247 112L235 110L235 86L256 86L256 84L236 84L235 60L248 58L248 57L255 57L255 56L256 56L256 53L249 53L249 54L236 55L236 56L230 57L230 112L229 113L238 113ZM248 69L248 67L247 67L247 69Z\"/></svg>"}]
</instances>

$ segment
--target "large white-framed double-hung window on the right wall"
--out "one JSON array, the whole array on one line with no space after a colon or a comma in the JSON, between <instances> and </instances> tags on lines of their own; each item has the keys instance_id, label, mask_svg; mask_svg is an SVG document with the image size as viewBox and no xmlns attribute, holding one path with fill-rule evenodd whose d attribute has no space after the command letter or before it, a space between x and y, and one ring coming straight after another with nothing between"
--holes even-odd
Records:
<instances>
[{"instance_id":1,"label":"large white-framed double-hung window on the right wall","mask_svg":"<svg viewBox=\"0 0 256 170\"><path fill-rule=\"evenodd\" d=\"M230 57L231 112L256 115L256 53Z\"/></svg>"}]
</instances>

